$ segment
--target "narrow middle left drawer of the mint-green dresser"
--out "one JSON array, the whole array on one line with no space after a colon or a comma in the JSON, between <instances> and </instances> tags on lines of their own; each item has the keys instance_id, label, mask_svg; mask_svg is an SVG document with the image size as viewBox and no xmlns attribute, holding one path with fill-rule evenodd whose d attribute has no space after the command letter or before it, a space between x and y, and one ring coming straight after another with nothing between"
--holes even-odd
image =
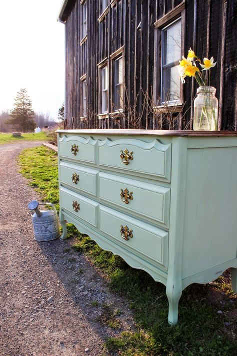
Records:
<instances>
[{"instance_id":1,"label":"narrow middle left drawer of the mint-green dresser","mask_svg":"<svg viewBox=\"0 0 237 356\"><path fill-rule=\"evenodd\" d=\"M70 163L60 162L60 181L62 184L81 190L85 193L96 195L96 175L97 171L76 166Z\"/></svg>"}]
</instances>

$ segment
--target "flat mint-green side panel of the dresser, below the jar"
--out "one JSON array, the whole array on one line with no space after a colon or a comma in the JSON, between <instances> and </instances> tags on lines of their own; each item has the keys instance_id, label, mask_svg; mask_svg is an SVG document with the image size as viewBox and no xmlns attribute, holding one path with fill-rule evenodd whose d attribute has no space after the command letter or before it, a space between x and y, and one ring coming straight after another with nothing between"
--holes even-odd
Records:
<instances>
[{"instance_id":1,"label":"flat mint-green side panel of the dresser, below the jar","mask_svg":"<svg viewBox=\"0 0 237 356\"><path fill-rule=\"evenodd\" d=\"M187 150L183 278L236 258L236 181L237 147Z\"/></svg>"}]
</instances>

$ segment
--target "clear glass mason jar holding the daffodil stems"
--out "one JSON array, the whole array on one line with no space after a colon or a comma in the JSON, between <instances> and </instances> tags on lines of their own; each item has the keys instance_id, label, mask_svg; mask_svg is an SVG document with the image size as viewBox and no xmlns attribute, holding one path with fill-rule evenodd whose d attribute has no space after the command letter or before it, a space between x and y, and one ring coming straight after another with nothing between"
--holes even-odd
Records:
<instances>
[{"instance_id":1,"label":"clear glass mason jar holding the daffodil stems","mask_svg":"<svg viewBox=\"0 0 237 356\"><path fill-rule=\"evenodd\" d=\"M197 97L193 104L193 130L217 130L218 100L215 91L214 87L197 88Z\"/></svg>"}]
</instances>

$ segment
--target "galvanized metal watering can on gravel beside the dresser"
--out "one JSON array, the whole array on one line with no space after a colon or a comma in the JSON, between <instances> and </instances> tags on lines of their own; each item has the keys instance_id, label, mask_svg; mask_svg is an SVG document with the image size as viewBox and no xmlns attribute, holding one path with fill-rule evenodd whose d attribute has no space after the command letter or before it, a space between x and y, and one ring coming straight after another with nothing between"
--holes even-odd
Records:
<instances>
[{"instance_id":1,"label":"galvanized metal watering can on gravel beside the dresser","mask_svg":"<svg viewBox=\"0 0 237 356\"><path fill-rule=\"evenodd\" d=\"M53 210L39 210L39 205L50 205ZM57 212L53 204L39 204L37 200L32 200L28 204L28 209L32 211L33 233L36 241L51 241L59 237Z\"/></svg>"}]
</instances>

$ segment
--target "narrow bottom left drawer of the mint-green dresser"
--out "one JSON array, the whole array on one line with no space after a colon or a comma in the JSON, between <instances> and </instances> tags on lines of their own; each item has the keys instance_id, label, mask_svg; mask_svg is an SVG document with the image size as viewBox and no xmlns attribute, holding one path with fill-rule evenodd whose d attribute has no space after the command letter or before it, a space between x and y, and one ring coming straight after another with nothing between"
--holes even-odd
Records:
<instances>
[{"instance_id":1,"label":"narrow bottom left drawer of the mint-green dresser","mask_svg":"<svg viewBox=\"0 0 237 356\"><path fill-rule=\"evenodd\" d=\"M60 197L60 205L63 210L68 211L79 219L89 222L95 227L97 226L96 215L98 203L63 187L60 188ZM72 206L73 203L74 208Z\"/></svg>"}]
</instances>

